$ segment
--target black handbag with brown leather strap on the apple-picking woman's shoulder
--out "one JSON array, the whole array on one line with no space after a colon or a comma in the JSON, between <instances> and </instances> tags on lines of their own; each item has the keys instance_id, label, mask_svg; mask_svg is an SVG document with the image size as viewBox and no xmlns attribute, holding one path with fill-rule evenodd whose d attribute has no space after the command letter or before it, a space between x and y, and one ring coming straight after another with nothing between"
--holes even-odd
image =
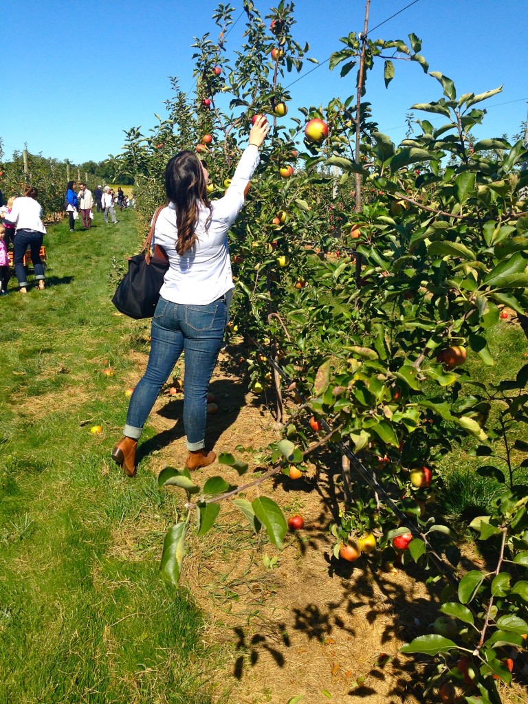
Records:
<instances>
[{"instance_id":1,"label":"black handbag with brown leather strap on the apple-picking woman's shoulder","mask_svg":"<svg viewBox=\"0 0 528 704\"><path fill-rule=\"evenodd\" d=\"M165 206L160 206L154 214L142 251L128 257L128 271L112 298L112 303L120 313L135 320L152 318L154 315L163 286L163 277L169 268L168 256L163 247L156 244L151 253L154 226L163 208Z\"/></svg>"}]
</instances>

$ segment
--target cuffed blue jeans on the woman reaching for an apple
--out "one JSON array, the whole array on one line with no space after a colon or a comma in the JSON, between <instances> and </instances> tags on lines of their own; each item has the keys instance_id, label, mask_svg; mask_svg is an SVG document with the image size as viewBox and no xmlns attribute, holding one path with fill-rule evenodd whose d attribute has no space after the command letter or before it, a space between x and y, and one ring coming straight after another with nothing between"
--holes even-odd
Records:
<instances>
[{"instance_id":1,"label":"cuffed blue jeans on the woman reaching for an apple","mask_svg":"<svg viewBox=\"0 0 528 704\"><path fill-rule=\"evenodd\" d=\"M152 319L151 353L146 372L130 398L123 433L139 439L154 402L182 351L185 352L183 422L187 449L205 447L207 390L227 325L225 299L207 306L160 298Z\"/></svg>"}]
</instances>

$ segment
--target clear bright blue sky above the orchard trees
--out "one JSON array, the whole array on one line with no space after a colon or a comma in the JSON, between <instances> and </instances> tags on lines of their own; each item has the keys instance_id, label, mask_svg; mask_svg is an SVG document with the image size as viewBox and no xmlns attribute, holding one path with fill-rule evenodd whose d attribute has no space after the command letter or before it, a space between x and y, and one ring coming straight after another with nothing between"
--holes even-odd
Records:
<instances>
[{"instance_id":1,"label":"clear bright blue sky above the orchard trees","mask_svg":"<svg viewBox=\"0 0 528 704\"><path fill-rule=\"evenodd\" d=\"M411 1L372 0L370 27ZM237 18L241 0L231 4ZM272 5L260 0L254 4L262 16ZM210 0L9 2L0 15L4 159L25 142L34 153L74 163L118 153L122 130L142 125L146 132L156 123L153 113L163 115L168 76L179 76L182 89L191 89L192 38L208 31L217 36L210 19L216 6ZM364 0L298 0L295 38L310 44L308 56L325 61L341 47L339 37L363 30L364 8ZM228 53L240 46L244 18L230 32ZM453 79L458 95L504 84L501 94L483 103L489 113L476 134L511 137L527 117L526 18L527 0L419 0L372 30L370 37L406 40L415 32L429 70ZM389 89L384 88L381 62L370 73L367 99L380 130L398 143L408 108L439 99L441 87L416 63L395 63ZM302 73L311 68L306 63ZM297 77L287 75L284 84ZM290 115L301 116L298 106L325 105L332 97L353 94L355 80L355 71L341 79L339 68L318 68L291 87ZM416 116L436 120L426 113Z\"/></svg>"}]
</instances>

